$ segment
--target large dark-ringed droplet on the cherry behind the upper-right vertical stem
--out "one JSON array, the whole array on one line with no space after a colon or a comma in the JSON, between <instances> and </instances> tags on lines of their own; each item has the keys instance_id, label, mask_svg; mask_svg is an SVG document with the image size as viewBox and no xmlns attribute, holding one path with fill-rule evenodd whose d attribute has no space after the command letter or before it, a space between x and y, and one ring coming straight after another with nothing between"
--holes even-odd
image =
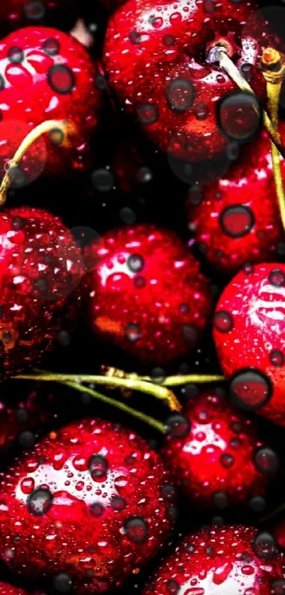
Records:
<instances>
[{"instance_id":1,"label":"large dark-ringed droplet on the cherry behind the upper-right vertical stem","mask_svg":"<svg viewBox=\"0 0 285 595\"><path fill-rule=\"evenodd\" d=\"M219 223L230 238L243 238L254 226L255 218L247 206L233 205L223 209Z\"/></svg>"}]
</instances>

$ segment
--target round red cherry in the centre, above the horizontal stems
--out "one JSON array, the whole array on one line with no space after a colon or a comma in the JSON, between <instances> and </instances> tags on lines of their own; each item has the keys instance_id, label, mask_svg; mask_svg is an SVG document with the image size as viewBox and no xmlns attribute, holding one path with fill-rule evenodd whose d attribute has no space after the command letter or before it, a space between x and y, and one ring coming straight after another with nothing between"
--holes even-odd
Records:
<instances>
[{"instance_id":1,"label":"round red cherry in the centre, above the horizontal stems","mask_svg":"<svg viewBox=\"0 0 285 595\"><path fill-rule=\"evenodd\" d=\"M197 345L211 312L207 280L169 230L141 225L105 234L91 249L91 328L147 362ZM90 270L90 268L89 268Z\"/></svg>"}]
</instances>

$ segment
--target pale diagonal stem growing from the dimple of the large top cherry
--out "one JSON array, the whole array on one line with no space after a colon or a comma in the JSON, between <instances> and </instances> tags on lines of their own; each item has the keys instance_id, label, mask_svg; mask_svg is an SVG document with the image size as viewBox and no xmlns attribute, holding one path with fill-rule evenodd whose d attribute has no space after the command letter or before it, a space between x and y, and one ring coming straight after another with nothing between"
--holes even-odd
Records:
<instances>
[{"instance_id":1,"label":"pale diagonal stem growing from the dimple of the large top cherry","mask_svg":"<svg viewBox=\"0 0 285 595\"><path fill-rule=\"evenodd\" d=\"M240 90L250 93L256 97L257 95L250 87L250 84L248 84L248 81L245 80L245 78L240 73L238 68L235 66L235 64L233 63L231 58L228 57L228 55L226 54L225 48L221 48L219 51L217 51L216 56L217 56L217 59L219 60L220 67L226 71L228 76L233 80L233 82L235 82L235 84L238 85ZM274 145L276 146L280 155L282 155L282 157L284 157L284 159L285 159L285 147L281 140L281 136L279 135L278 130L276 130L274 124L270 120L267 112L263 109L262 113L263 113L264 126L267 129L267 132L272 140L272 143L274 143Z\"/></svg>"}]
</instances>

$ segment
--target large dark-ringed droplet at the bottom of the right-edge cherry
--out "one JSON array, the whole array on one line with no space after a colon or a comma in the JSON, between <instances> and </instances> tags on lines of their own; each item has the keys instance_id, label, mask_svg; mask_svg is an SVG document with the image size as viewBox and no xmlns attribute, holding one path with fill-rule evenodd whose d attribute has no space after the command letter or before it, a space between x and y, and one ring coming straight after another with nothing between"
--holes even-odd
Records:
<instances>
[{"instance_id":1,"label":"large dark-ringed droplet at the bottom of the right-edge cherry","mask_svg":"<svg viewBox=\"0 0 285 595\"><path fill-rule=\"evenodd\" d=\"M262 407L272 395L269 379L257 369L243 369L230 382L233 405L255 411Z\"/></svg>"}]
</instances>

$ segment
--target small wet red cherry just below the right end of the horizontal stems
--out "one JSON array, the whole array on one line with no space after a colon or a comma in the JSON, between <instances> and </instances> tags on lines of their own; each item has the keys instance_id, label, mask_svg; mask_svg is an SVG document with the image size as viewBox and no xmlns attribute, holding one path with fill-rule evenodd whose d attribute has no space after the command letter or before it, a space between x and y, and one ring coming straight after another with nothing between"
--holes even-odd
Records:
<instances>
[{"instance_id":1,"label":"small wet red cherry just below the right end of the horizontal stems","mask_svg":"<svg viewBox=\"0 0 285 595\"><path fill-rule=\"evenodd\" d=\"M264 496L270 477L255 465L262 443L252 420L214 391L189 399L183 416L189 433L169 434L163 457L173 481L195 506L226 508Z\"/></svg>"}]
</instances>

